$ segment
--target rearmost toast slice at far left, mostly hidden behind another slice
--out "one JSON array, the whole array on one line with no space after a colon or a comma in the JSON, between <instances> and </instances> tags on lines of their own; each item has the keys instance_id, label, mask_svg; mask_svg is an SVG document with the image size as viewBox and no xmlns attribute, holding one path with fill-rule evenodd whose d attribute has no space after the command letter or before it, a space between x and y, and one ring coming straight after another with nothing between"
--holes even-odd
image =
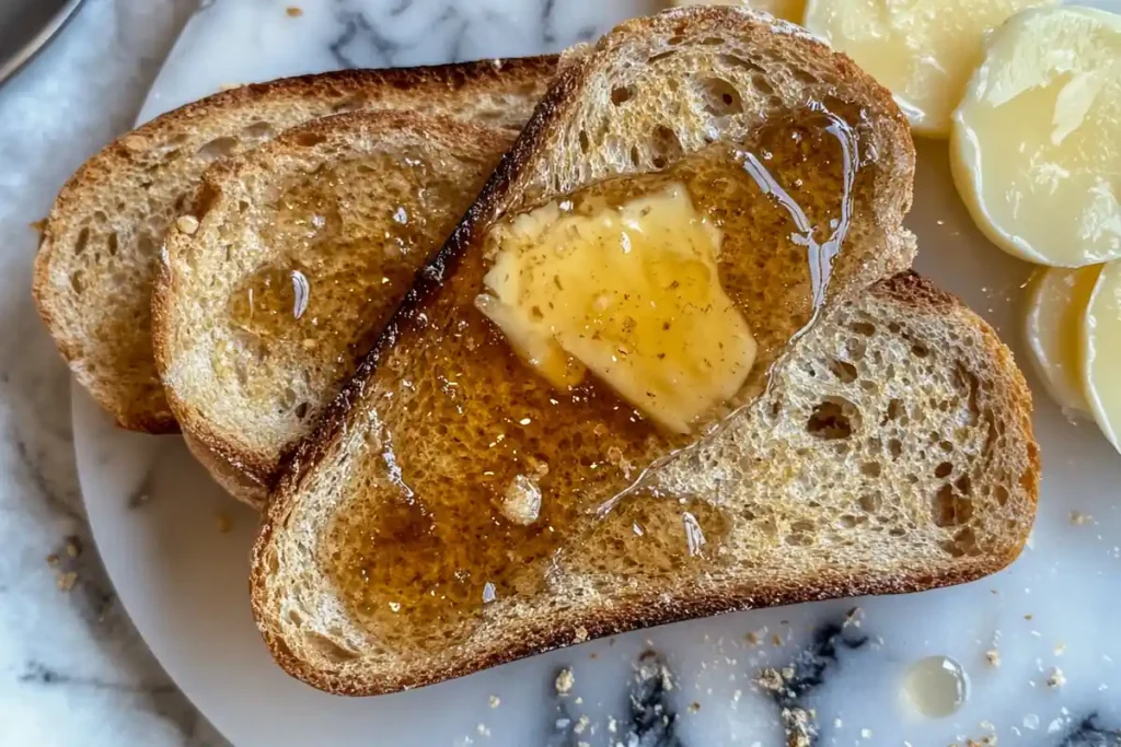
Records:
<instances>
[{"instance_id":1,"label":"rearmost toast slice at far left, mostly hidden behind another slice","mask_svg":"<svg viewBox=\"0 0 1121 747\"><path fill-rule=\"evenodd\" d=\"M151 282L165 231L215 160L354 110L517 130L555 65L532 57L286 78L209 96L122 136L62 188L35 263L36 305L75 377L122 428L178 430L152 363Z\"/></svg>"}]
</instances>

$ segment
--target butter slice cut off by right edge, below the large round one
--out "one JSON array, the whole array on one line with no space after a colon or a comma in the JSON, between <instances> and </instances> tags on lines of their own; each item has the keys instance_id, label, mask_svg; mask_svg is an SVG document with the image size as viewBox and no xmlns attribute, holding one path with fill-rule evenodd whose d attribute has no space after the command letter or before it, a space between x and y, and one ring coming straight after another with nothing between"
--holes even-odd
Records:
<instances>
[{"instance_id":1,"label":"butter slice cut off by right edge, below the large round one","mask_svg":"<svg viewBox=\"0 0 1121 747\"><path fill-rule=\"evenodd\" d=\"M1102 268L1082 321L1082 379L1090 410L1121 451L1121 262Z\"/></svg>"}]
</instances>

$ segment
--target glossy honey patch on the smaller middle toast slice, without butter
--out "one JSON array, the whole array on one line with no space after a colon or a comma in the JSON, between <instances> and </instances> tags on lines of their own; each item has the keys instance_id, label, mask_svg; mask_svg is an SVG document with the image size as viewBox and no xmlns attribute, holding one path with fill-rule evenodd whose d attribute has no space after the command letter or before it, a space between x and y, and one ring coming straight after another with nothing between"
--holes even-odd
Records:
<instances>
[{"instance_id":1,"label":"glossy honey patch on the smaller middle toast slice, without butter","mask_svg":"<svg viewBox=\"0 0 1121 747\"><path fill-rule=\"evenodd\" d=\"M261 211L272 260L234 289L229 318L266 348L330 366L331 382L350 374L488 172L423 152L373 153L294 178Z\"/></svg>"}]
</instances>

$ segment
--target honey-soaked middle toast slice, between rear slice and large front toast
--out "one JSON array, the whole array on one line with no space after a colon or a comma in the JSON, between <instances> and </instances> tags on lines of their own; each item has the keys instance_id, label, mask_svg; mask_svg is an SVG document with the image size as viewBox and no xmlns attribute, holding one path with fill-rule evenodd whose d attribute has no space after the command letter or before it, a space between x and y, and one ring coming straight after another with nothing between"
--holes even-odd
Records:
<instances>
[{"instance_id":1,"label":"honey-soaked middle toast slice, between rear slice and large front toast","mask_svg":"<svg viewBox=\"0 0 1121 747\"><path fill-rule=\"evenodd\" d=\"M354 112L202 177L166 236L152 342L192 451L231 494L263 504L281 455L311 432L515 137Z\"/></svg>"}]
</instances>

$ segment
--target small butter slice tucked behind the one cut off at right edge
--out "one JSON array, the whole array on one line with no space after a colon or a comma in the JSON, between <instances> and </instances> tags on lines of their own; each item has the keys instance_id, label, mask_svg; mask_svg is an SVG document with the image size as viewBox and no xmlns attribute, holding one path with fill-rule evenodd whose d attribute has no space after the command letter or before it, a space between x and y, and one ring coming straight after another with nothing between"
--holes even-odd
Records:
<instances>
[{"instance_id":1,"label":"small butter slice tucked behind the one cut off at right edge","mask_svg":"<svg viewBox=\"0 0 1121 747\"><path fill-rule=\"evenodd\" d=\"M1040 269L1031 278L1025 330L1047 391L1068 412L1090 412L1082 385L1082 320L1101 265Z\"/></svg>"}]
</instances>

